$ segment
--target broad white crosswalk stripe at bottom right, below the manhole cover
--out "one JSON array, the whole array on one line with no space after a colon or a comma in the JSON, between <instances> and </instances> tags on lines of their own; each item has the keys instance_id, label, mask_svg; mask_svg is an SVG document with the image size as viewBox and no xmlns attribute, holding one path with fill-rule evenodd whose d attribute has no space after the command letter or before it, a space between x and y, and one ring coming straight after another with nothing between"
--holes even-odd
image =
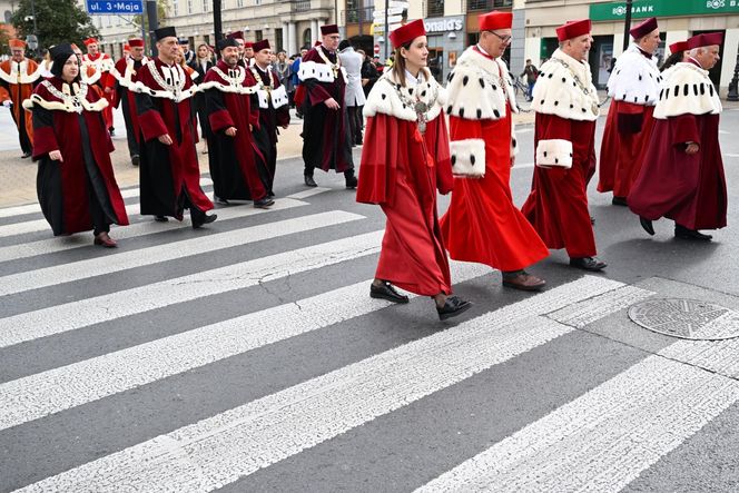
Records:
<instances>
[{"instance_id":1,"label":"broad white crosswalk stripe at bottom right, below the manhole cover","mask_svg":"<svg viewBox=\"0 0 739 493\"><path fill-rule=\"evenodd\" d=\"M416 492L618 492L737 400L738 382L650 356Z\"/></svg>"}]
</instances>

